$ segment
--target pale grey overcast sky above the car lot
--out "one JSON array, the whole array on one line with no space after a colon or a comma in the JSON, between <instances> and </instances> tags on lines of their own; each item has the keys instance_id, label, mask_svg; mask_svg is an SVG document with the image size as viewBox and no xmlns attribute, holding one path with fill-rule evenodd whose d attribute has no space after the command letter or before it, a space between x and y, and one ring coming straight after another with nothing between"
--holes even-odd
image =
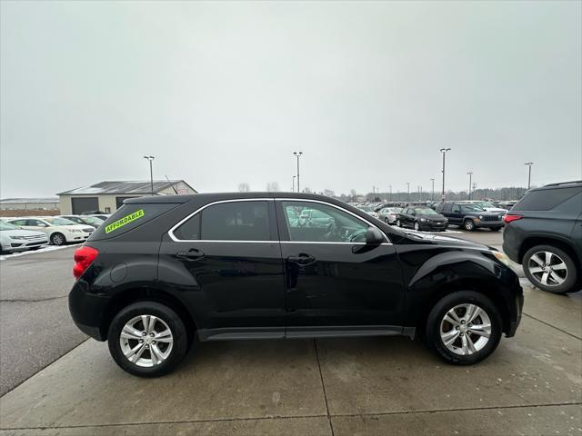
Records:
<instances>
[{"instance_id":1,"label":"pale grey overcast sky above the car lot","mask_svg":"<svg viewBox=\"0 0 582 436\"><path fill-rule=\"evenodd\" d=\"M580 179L581 5L2 1L0 194Z\"/></svg>"}]
</instances>

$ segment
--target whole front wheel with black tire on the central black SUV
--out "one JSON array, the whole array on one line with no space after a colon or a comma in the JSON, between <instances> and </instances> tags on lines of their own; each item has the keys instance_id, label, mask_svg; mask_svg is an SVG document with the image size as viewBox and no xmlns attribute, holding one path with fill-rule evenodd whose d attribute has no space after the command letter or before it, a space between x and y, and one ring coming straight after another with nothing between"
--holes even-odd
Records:
<instances>
[{"instance_id":1,"label":"whole front wheel with black tire on the central black SUV","mask_svg":"<svg viewBox=\"0 0 582 436\"><path fill-rule=\"evenodd\" d=\"M477 306L481 310L477 313L473 322L470 323L467 322L467 312L464 312L469 305L472 305L472 307ZM457 319L459 321L459 330L457 330L457 326L454 323L445 321L447 313L450 313L454 308L457 308L455 313L457 313ZM475 324L475 322L480 322L480 324ZM468 328L469 325L473 327L476 325L487 325L487 323L490 324L488 338L475 333L477 329L471 330ZM463 329L468 329L468 335L462 332ZM487 332L487 328L480 331ZM457 334L457 336L447 346L441 332L445 335L451 333L453 335ZM427 345L434 352L437 352L444 361L456 365L471 365L483 361L489 354L495 351L501 340L501 333L501 314L496 305L482 293L459 291L449 293L443 297L430 311L426 320L425 340ZM451 334L445 337L452 339L453 336ZM466 339L463 339L463 336ZM474 351L470 351L468 348L469 342L467 342L467 339L473 344ZM463 349L465 344L467 344L467 348L465 348L467 354L463 354L465 352ZM457 352L454 350L457 350Z\"/></svg>"}]
</instances>

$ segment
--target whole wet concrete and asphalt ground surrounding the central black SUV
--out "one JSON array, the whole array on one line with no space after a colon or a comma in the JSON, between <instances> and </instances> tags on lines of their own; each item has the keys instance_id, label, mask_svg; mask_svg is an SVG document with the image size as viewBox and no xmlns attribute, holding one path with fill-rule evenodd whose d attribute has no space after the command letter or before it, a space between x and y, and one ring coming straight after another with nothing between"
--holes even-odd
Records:
<instances>
[{"instance_id":1,"label":"whole wet concrete and asphalt ground surrounding the central black SUV","mask_svg":"<svg viewBox=\"0 0 582 436\"><path fill-rule=\"evenodd\" d=\"M445 234L497 248L502 238ZM0 398L0 434L582 434L582 292L525 286L516 337L476 366L404 337L204 342L146 380L75 332L71 258L65 248L0 262L2 387L17 385Z\"/></svg>"}]
</instances>

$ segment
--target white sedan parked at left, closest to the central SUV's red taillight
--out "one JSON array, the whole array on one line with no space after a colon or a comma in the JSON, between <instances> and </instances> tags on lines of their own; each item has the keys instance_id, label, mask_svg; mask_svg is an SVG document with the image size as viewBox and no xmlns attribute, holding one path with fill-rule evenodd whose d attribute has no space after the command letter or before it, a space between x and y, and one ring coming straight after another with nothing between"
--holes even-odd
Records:
<instances>
[{"instance_id":1,"label":"white sedan parked at left, closest to the central SUV's red taillight","mask_svg":"<svg viewBox=\"0 0 582 436\"><path fill-rule=\"evenodd\" d=\"M55 216L23 217L8 221L25 230L43 232L53 245L64 243L82 243L95 231L93 227L73 223L65 218Z\"/></svg>"}]
</instances>

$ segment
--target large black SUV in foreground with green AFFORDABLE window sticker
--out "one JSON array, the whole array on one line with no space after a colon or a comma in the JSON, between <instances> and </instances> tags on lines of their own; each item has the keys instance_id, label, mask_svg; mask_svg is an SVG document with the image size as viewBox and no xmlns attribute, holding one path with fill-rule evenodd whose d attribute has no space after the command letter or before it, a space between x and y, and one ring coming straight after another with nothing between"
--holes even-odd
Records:
<instances>
[{"instance_id":1,"label":"large black SUV in foreground with green AFFORDABLE window sticker","mask_svg":"<svg viewBox=\"0 0 582 436\"><path fill-rule=\"evenodd\" d=\"M200 341L424 337L479 362L513 336L523 293L503 253L403 233L323 195L125 200L75 252L76 325L126 372L171 371ZM297 217L316 210L328 224Z\"/></svg>"}]
</instances>

